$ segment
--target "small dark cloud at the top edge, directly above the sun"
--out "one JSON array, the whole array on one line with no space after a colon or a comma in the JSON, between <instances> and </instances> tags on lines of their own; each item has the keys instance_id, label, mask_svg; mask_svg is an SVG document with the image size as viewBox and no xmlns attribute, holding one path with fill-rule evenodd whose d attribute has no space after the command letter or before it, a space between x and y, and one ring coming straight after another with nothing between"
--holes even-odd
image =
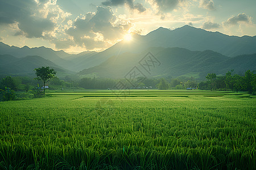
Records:
<instances>
[{"instance_id":1,"label":"small dark cloud at the top edge, directly above the sun","mask_svg":"<svg viewBox=\"0 0 256 170\"><path fill-rule=\"evenodd\" d=\"M139 13L146 11L142 3L134 5L134 0L108 0L101 3L104 6L123 6L127 5L131 10L138 10Z\"/></svg>"}]
</instances>

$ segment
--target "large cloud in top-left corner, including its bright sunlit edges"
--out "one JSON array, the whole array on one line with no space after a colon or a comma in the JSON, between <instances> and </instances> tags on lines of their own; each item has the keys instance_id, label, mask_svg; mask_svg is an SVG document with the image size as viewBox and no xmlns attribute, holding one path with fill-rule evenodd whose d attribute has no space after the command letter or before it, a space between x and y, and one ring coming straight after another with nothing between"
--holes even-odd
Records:
<instances>
[{"instance_id":1,"label":"large cloud in top-left corner, including its bright sunlit edges","mask_svg":"<svg viewBox=\"0 0 256 170\"><path fill-rule=\"evenodd\" d=\"M45 37L53 35L61 22L70 14L56 6L56 0L0 0L0 25L16 25L15 36Z\"/></svg>"}]
</instances>

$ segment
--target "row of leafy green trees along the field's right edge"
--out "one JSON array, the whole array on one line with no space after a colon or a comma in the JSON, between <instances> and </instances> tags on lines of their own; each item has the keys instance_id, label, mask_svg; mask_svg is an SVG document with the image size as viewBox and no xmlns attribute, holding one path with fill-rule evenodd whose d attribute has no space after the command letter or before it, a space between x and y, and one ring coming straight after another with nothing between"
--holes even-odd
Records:
<instances>
[{"instance_id":1,"label":"row of leafy green trees along the field's right edge","mask_svg":"<svg viewBox=\"0 0 256 170\"><path fill-rule=\"evenodd\" d=\"M179 78L172 79L171 82L162 78L158 84L159 89L192 89L199 90L217 90L217 91L247 91L250 94L256 93L256 74L255 71L247 70L245 74L239 75L234 70L228 71L225 75L216 75L208 73L205 80L197 83L193 77L187 81L180 82ZM180 82L180 83L179 83Z\"/></svg>"}]
</instances>

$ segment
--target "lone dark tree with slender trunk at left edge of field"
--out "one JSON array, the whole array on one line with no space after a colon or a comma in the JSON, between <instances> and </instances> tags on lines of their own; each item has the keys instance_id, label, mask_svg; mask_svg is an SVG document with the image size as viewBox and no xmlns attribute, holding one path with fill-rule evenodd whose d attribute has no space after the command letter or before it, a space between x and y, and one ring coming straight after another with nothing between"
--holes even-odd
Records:
<instances>
[{"instance_id":1,"label":"lone dark tree with slender trunk at left edge of field","mask_svg":"<svg viewBox=\"0 0 256 170\"><path fill-rule=\"evenodd\" d=\"M43 81L44 94L46 94L46 92L45 92L46 82L48 82L55 76L56 71L54 71L54 69L49 69L49 67L41 67L41 68L34 69L34 70L36 71L36 73L35 73L36 76L38 76L35 79Z\"/></svg>"}]
</instances>

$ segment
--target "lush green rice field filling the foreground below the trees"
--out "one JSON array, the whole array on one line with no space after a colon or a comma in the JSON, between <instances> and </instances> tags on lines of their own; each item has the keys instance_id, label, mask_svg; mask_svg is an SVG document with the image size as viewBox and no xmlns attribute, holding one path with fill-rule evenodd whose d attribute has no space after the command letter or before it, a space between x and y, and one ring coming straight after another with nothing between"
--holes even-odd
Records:
<instances>
[{"instance_id":1,"label":"lush green rice field filling the foreground below the trees","mask_svg":"<svg viewBox=\"0 0 256 170\"><path fill-rule=\"evenodd\" d=\"M0 103L0 169L255 169L256 99L51 92Z\"/></svg>"}]
</instances>

